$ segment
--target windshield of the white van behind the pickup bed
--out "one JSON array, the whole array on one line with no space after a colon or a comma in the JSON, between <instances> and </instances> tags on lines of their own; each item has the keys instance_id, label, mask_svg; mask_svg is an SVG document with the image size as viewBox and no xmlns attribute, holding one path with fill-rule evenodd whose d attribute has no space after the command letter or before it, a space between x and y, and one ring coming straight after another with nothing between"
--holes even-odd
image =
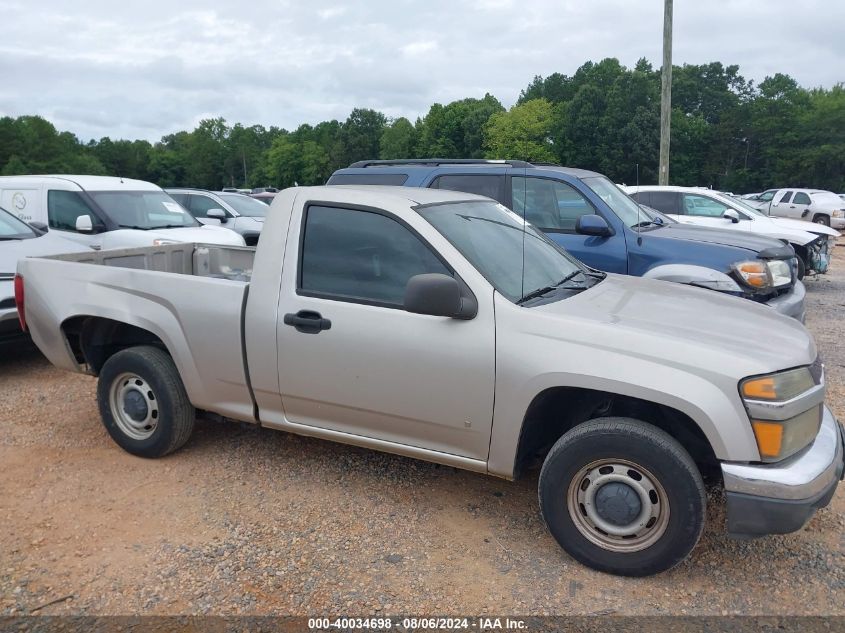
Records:
<instances>
[{"instance_id":1,"label":"windshield of the white van behind the pickup bed","mask_svg":"<svg viewBox=\"0 0 845 633\"><path fill-rule=\"evenodd\" d=\"M89 195L121 228L148 231L199 226L163 191L91 191Z\"/></svg>"}]
</instances>

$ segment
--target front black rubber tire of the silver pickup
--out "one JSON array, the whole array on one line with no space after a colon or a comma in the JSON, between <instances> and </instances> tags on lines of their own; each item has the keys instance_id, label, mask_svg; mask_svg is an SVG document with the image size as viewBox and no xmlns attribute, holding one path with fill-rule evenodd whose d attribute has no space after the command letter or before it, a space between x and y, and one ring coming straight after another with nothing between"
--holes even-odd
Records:
<instances>
[{"instance_id":1,"label":"front black rubber tire of the silver pickup","mask_svg":"<svg viewBox=\"0 0 845 633\"><path fill-rule=\"evenodd\" d=\"M584 535L583 530L590 532L584 527L589 519L577 518L580 528L573 520L570 506L584 517L587 513L583 504L572 503L570 496L591 486L589 479L578 483L575 478L581 480L579 472L602 460L633 464L636 474L640 472L637 469L646 473L646 482L653 477L665 495L662 506L656 502L652 506L656 512L667 507L669 511L665 518L661 515L659 523L655 521L662 526L651 535L657 540L647 544L646 539L644 549L620 552L602 547ZM649 576L671 569L692 551L704 527L704 482L689 453L665 431L630 418L597 418L564 434L543 463L539 496L543 520L560 546L584 565L611 574ZM648 529L644 530L648 534ZM595 533L592 537L602 539ZM617 543L630 547L624 540Z\"/></svg>"}]
</instances>

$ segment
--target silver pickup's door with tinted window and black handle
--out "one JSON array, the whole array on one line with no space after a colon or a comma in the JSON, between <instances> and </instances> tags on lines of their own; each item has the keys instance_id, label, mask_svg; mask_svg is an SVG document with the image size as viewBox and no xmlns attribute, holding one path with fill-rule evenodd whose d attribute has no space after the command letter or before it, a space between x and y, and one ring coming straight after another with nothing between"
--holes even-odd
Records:
<instances>
[{"instance_id":1,"label":"silver pickup's door with tinted window and black handle","mask_svg":"<svg viewBox=\"0 0 845 633\"><path fill-rule=\"evenodd\" d=\"M285 419L486 460L492 289L477 296L471 320L411 314L402 307L408 279L455 273L410 226L342 205L311 205L292 226L304 234L299 249L286 251L279 298Z\"/></svg>"}]
</instances>

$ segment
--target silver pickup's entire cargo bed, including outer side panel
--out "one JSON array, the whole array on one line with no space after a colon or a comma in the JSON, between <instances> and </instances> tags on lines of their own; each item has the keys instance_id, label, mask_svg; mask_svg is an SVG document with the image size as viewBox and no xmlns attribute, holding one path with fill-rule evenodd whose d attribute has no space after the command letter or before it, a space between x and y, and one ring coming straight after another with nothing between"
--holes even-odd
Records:
<instances>
[{"instance_id":1,"label":"silver pickup's entire cargo bed, including outer side panel","mask_svg":"<svg viewBox=\"0 0 845 633\"><path fill-rule=\"evenodd\" d=\"M71 354L67 327L106 319L148 331L170 352L196 407L248 420L243 310L254 255L179 243L27 258L18 264L27 325L47 358L72 371L86 367Z\"/></svg>"}]
</instances>

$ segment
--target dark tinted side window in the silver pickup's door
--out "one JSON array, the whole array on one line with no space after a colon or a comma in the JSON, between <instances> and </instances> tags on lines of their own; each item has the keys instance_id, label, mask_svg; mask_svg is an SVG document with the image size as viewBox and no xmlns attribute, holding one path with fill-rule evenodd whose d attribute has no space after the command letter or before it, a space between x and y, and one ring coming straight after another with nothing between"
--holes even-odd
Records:
<instances>
[{"instance_id":1,"label":"dark tinted side window in the silver pickup's door","mask_svg":"<svg viewBox=\"0 0 845 633\"><path fill-rule=\"evenodd\" d=\"M309 207L299 289L401 307L414 275L452 273L408 228L369 211Z\"/></svg>"}]
</instances>

